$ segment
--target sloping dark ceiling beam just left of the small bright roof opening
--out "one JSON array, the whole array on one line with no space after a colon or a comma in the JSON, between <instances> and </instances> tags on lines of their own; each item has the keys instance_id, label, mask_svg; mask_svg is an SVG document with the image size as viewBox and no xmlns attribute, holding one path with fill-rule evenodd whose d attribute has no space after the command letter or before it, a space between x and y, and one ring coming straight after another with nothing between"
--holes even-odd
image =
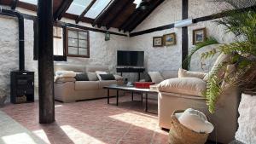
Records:
<instances>
[{"instance_id":1,"label":"sloping dark ceiling beam just left of the small bright roof opening","mask_svg":"<svg viewBox=\"0 0 256 144\"><path fill-rule=\"evenodd\" d=\"M134 2L134 0L128 0L126 3L123 3L123 6L119 6L117 8L116 15L113 16L113 18L111 20L109 20L106 25L107 29L109 29L113 25L113 22L119 18L120 14L122 14L126 9L129 8L129 6L130 6L129 3L133 3L133 2Z\"/></svg>"}]
</instances>

